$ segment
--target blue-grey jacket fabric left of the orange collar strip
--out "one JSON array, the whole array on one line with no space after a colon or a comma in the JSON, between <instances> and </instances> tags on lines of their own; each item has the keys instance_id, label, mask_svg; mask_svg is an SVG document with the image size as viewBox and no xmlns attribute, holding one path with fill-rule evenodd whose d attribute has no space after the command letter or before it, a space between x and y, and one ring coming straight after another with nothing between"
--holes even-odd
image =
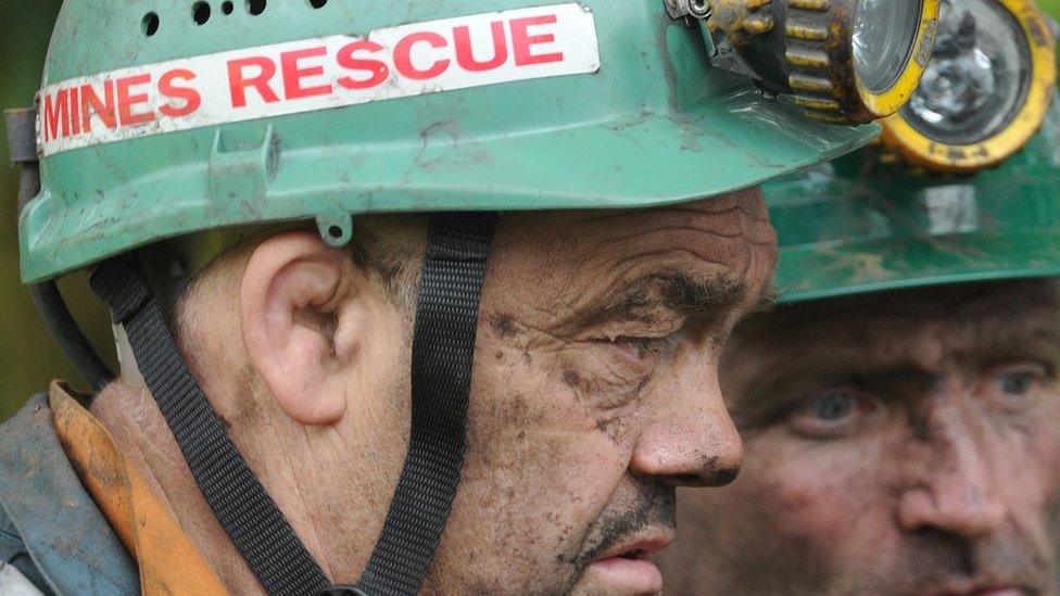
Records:
<instances>
[{"instance_id":1,"label":"blue-grey jacket fabric left of the orange collar strip","mask_svg":"<svg viewBox=\"0 0 1060 596\"><path fill-rule=\"evenodd\" d=\"M136 565L63 453L48 397L0 426L0 557L48 594L139 594Z\"/></svg>"}]
</instances>

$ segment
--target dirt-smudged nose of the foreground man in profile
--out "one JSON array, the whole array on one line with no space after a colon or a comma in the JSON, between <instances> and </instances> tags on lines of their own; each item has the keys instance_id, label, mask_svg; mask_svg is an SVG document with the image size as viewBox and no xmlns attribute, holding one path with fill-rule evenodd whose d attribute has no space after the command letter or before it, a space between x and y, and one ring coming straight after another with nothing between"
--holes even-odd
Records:
<instances>
[{"instance_id":1,"label":"dirt-smudged nose of the foreground man in profile","mask_svg":"<svg viewBox=\"0 0 1060 596\"><path fill-rule=\"evenodd\" d=\"M644 429L630 461L634 475L681 486L724 486L736 479L744 447L721 390L712 382L697 393Z\"/></svg>"}]
</instances>

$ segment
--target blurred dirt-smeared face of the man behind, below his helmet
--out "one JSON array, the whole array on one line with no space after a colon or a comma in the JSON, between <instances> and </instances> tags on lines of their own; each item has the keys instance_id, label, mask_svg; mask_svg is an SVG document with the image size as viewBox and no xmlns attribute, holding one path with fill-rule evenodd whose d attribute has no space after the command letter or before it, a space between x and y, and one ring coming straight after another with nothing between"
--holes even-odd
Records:
<instances>
[{"instance_id":1,"label":"blurred dirt-smeared face of the man behind, below his helmet","mask_svg":"<svg viewBox=\"0 0 1060 596\"><path fill-rule=\"evenodd\" d=\"M784 307L732 347L746 465L724 491L682 495L670 587L1058 593L1053 282Z\"/></svg>"}]
</instances>

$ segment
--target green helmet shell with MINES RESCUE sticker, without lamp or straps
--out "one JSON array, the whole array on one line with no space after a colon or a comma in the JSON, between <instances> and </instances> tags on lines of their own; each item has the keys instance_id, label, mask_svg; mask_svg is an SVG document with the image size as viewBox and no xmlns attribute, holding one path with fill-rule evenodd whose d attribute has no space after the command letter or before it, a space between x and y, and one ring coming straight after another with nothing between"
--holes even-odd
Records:
<instances>
[{"instance_id":1,"label":"green helmet shell with MINES RESCUE sticker, without lamp or straps","mask_svg":"<svg viewBox=\"0 0 1060 596\"><path fill-rule=\"evenodd\" d=\"M711 67L666 4L66 2L23 278L227 226L677 203L875 135Z\"/></svg>"}]
</instances>

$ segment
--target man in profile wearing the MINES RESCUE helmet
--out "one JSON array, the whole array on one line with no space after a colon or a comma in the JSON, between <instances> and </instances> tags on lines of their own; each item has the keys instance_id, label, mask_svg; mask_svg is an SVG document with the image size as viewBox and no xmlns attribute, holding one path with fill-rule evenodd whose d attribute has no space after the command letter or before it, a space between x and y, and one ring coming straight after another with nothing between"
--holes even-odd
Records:
<instances>
[{"instance_id":1,"label":"man in profile wearing the MINES RESCUE helmet","mask_svg":"<svg viewBox=\"0 0 1060 596\"><path fill-rule=\"evenodd\" d=\"M3 428L4 560L79 594L660 591L674 487L741 461L715 369L771 295L756 186L873 131L710 67L680 3L156 4L67 2L51 48L24 274L93 267L123 370L36 287L101 391Z\"/></svg>"}]
</instances>

